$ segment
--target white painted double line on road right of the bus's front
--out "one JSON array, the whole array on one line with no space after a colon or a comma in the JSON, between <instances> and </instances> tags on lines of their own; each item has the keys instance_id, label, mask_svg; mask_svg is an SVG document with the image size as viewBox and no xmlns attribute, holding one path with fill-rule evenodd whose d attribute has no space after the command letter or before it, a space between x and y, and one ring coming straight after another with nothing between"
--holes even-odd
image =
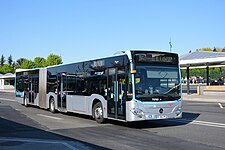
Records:
<instances>
[{"instance_id":1,"label":"white painted double line on road right of the bus's front","mask_svg":"<svg viewBox=\"0 0 225 150\"><path fill-rule=\"evenodd\" d=\"M202 126L217 127L217 128L225 128L225 124L223 124L223 123L188 120L188 119L169 120L169 121L180 122L180 123L187 123L187 124L195 124L195 125L202 125Z\"/></svg>"}]
</instances>

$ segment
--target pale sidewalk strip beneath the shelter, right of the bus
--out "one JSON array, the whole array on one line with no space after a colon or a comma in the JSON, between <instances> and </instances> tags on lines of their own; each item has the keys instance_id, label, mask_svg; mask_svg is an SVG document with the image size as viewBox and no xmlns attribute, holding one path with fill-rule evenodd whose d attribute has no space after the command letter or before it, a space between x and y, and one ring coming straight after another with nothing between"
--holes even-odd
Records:
<instances>
[{"instance_id":1,"label":"pale sidewalk strip beneath the shelter, right of the bus","mask_svg":"<svg viewBox=\"0 0 225 150\"><path fill-rule=\"evenodd\" d=\"M187 101L201 101L201 102L215 102L215 103L225 103L225 96L223 95L197 95L186 93L182 94L183 100Z\"/></svg>"}]
</instances>

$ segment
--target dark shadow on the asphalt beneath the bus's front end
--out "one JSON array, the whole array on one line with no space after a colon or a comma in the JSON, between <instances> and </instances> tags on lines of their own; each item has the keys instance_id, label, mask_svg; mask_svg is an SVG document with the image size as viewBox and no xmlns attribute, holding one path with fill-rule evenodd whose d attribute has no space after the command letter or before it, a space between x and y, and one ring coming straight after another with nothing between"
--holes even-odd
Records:
<instances>
[{"instance_id":1,"label":"dark shadow on the asphalt beneath the bus's front end","mask_svg":"<svg viewBox=\"0 0 225 150\"><path fill-rule=\"evenodd\" d=\"M129 128L145 129L145 128L162 128L162 127L173 127L182 126L189 124L193 120L196 120L200 116L199 113L183 112L181 119L165 119L165 120L148 120L148 121L137 121L137 122L118 122L108 121L111 124L126 126Z\"/></svg>"}]
</instances>

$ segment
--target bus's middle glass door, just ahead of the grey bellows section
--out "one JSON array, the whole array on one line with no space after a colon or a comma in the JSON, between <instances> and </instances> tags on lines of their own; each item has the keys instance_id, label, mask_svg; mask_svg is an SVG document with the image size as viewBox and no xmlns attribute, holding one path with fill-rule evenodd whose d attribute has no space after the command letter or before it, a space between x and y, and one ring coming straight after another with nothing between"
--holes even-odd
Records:
<instances>
[{"instance_id":1,"label":"bus's middle glass door, just ahead of the grey bellows section","mask_svg":"<svg viewBox=\"0 0 225 150\"><path fill-rule=\"evenodd\" d=\"M58 108L66 109L66 95L67 95L67 76L66 74L58 74L58 82L57 82L57 93L58 93Z\"/></svg>"}]
</instances>

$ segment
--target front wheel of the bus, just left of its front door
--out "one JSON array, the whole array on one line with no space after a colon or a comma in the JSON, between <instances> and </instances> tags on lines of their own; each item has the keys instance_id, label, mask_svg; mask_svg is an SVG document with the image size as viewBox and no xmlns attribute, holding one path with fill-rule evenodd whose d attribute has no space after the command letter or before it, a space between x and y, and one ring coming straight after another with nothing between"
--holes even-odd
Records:
<instances>
[{"instance_id":1,"label":"front wheel of the bus, just left of its front door","mask_svg":"<svg viewBox=\"0 0 225 150\"><path fill-rule=\"evenodd\" d=\"M101 102L97 102L93 109L92 109L92 114L95 118L95 121L97 123L104 123L105 118L103 118L103 108L102 108L102 103Z\"/></svg>"}]
</instances>

